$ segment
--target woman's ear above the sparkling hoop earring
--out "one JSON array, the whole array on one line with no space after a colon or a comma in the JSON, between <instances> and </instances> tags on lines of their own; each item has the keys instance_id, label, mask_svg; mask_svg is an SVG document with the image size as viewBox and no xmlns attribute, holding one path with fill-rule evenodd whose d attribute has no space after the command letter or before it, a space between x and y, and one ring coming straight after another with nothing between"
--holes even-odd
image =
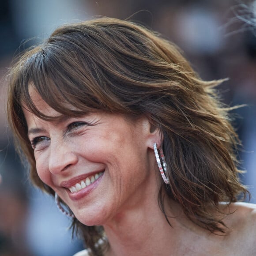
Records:
<instances>
[{"instance_id":1,"label":"woman's ear above the sparkling hoop earring","mask_svg":"<svg viewBox=\"0 0 256 256\"><path fill-rule=\"evenodd\" d=\"M157 124L145 118L143 120L144 131L146 132L146 145L148 148L153 148L153 143L161 145L163 142L163 133Z\"/></svg>"}]
</instances>

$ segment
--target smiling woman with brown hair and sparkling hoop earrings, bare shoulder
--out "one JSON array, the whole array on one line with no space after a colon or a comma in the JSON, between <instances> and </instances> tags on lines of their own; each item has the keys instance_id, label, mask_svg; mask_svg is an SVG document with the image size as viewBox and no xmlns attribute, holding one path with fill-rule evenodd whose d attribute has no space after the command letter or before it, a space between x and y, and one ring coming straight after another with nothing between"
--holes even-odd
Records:
<instances>
[{"instance_id":1,"label":"smiling woman with brown hair and sparkling hoop earrings, bare shoulder","mask_svg":"<svg viewBox=\"0 0 256 256\"><path fill-rule=\"evenodd\" d=\"M18 60L10 124L32 181L82 234L78 255L256 254L220 82L118 19L60 27Z\"/></svg>"}]
</instances>

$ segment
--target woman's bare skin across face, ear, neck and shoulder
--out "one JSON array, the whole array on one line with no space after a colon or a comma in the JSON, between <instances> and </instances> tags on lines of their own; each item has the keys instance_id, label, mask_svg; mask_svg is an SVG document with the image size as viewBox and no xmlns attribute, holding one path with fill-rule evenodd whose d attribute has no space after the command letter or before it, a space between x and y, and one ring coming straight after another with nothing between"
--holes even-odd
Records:
<instances>
[{"instance_id":1,"label":"woman's bare skin across face, ear, neck and shoulder","mask_svg":"<svg viewBox=\"0 0 256 256\"><path fill-rule=\"evenodd\" d=\"M147 118L130 120L118 114L90 113L63 117L33 89L30 95L42 113L56 117L45 121L23 108L41 180L68 204L85 225L102 225L109 240L108 256L146 255L256 255L256 207L221 204L229 231L209 233L190 222L171 201L170 227L158 206L162 183L153 143L160 132ZM82 196L70 196L63 184L76 177L104 171ZM69 183L68 183L69 182Z\"/></svg>"}]
</instances>

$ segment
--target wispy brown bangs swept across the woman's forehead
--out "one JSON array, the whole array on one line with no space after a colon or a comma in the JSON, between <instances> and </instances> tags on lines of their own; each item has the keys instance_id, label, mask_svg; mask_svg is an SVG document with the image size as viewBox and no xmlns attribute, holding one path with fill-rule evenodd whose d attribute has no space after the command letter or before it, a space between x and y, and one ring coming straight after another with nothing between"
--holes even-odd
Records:
<instances>
[{"instance_id":1,"label":"wispy brown bangs swept across the woman's forehead","mask_svg":"<svg viewBox=\"0 0 256 256\"><path fill-rule=\"evenodd\" d=\"M42 119L52 119L35 107L31 89L36 90L51 108L64 115L78 116L99 109L97 99L90 95L84 84L75 79L75 68L68 67L67 63L64 66L60 58L46 56L43 50L31 59L24 71L25 79L20 83L20 100L32 113ZM83 76L84 83L92 84Z\"/></svg>"}]
</instances>

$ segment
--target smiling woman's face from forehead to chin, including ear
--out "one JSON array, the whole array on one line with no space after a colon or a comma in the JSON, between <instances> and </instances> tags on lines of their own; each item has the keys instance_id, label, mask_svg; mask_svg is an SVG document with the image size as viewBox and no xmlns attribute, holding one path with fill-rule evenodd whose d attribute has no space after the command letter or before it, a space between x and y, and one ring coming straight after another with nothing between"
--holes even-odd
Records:
<instances>
[{"instance_id":1,"label":"smiling woman's face from forehead to chin, including ear","mask_svg":"<svg viewBox=\"0 0 256 256\"><path fill-rule=\"evenodd\" d=\"M45 121L23 108L38 176L80 222L104 225L157 195L152 147L160 143L159 132L146 118L132 121L109 113L67 117L34 90L30 94L39 111L56 117Z\"/></svg>"}]
</instances>

